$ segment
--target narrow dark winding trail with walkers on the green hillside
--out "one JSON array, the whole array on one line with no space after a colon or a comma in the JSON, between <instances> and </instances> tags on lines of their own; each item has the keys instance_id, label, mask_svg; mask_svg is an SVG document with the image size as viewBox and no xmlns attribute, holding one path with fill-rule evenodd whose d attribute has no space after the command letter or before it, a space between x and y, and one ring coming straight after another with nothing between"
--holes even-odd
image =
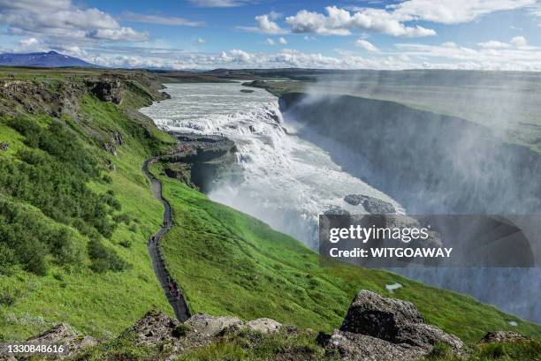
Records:
<instances>
[{"instance_id":1,"label":"narrow dark winding trail with walkers on the green hillside","mask_svg":"<svg viewBox=\"0 0 541 361\"><path fill-rule=\"evenodd\" d=\"M169 271L167 271L164 259L162 257L162 253L160 251L160 240L162 239L162 237L164 237L164 234L167 233L167 231L171 228L172 217L171 205L169 204L167 199L164 199L164 196L162 195L162 184L159 180L156 179L156 177L154 177L149 172L149 164L155 161L156 158L150 158L149 160L145 161L142 165L141 171L145 174L145 176L147 176L147 178L149 178L150 189L154 194L154 197L160 200L164 205L163 224L167 222L167 225L157 230L157 232L154 234L154 242L149 242L149 254L150 259L152 259L152 267L154 268L154 273L156 274L158 281L164 289L165 297L167 297L167 299L169 300L169 303L171 304L171 307L175 312L177 320L184 322L190 318L190 311L188 309L186 299L182 294L182 291L179 290L178 287L176 287L177 283L174 282ZM175 285L172 289L171 284Z\"/></svg>"}]
</instances>

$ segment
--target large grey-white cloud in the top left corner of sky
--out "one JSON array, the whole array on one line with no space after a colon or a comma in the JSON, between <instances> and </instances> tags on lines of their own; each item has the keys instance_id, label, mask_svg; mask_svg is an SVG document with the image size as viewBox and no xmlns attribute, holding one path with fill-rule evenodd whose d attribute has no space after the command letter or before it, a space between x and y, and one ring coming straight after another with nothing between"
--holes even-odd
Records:
<instances>
[{"instance_id":1,"label":"large grey-white cloud in the top left corner of sky","mask_svg":"<svg viewBox=\"0 0 541 361\"><path fill-rule=\"evenodd\" d=\"M108 13L82 9L70 0L0 0L0 24L8 34L57 39L141 41L149 34L120 26ZM62 43L65 41L57 41Z\"/></svg>"}]
</instances>

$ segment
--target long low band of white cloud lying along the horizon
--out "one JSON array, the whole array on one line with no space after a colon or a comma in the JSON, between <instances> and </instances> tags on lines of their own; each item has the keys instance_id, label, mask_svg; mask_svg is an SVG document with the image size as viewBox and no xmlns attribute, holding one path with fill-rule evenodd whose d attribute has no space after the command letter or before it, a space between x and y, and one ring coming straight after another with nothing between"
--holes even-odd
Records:
<instances>
[{"instance_id":1,"label":"long low band of white cloud lying along the horizon","mask_svg":"<svg viewBox=\"0 0 541 361\"><path fill-rule=\"evenodd\" d=\"M107 50L103 50L107 49ZM474 69L541 71L541 49L482 49L457 45L402 43L396 51L373 53L366 58L339 51L337 56L282 49L276 53L250 53L233 49L222 53L188 53L175 49L139 49L110 46L80 56L90 63L115 67L155 67L169 69L278 68L323 69ZM77 49L69 50L73 54Z\"/></svg>"}]
</instances>

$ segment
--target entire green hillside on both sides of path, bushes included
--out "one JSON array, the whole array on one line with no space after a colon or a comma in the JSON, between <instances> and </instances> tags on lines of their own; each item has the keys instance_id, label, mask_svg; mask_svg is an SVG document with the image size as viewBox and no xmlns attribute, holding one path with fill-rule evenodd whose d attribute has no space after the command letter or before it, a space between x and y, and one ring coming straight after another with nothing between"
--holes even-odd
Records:
<instances>
[{"instance_id":1,"label":"entire green hillside on both sides of path, bushes included","mask_svg":"<svg viewBox=\"0 0 541 361\"><path fill-rule=\"evenodd\" d=\"M0 143L9 146L0 151L0 340L57 322L108 337L151 308L171 314L146 248L163 207L141 164L172 139L136 111L156 99L156 79L19 72L23 83L0 88ZM119 104L85 88L88 77L104 75L122 82ZM164 177L159 165L153 171L175 217L165 258L192 312L329 331L354 294L368 289L412 301L428 323L466 341L499 329L541 335L541 327L471 297L385 271L320 267L300 242ZM394 282L404 287L390 294L385 285Z\"/></svg>"}]
</instances>

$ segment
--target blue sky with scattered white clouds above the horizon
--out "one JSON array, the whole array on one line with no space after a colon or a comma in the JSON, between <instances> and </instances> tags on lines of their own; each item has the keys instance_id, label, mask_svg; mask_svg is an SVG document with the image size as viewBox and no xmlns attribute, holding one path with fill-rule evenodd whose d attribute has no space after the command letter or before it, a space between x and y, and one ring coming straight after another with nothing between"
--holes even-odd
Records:
<instances>
[{"instance_id":1,"label":"blue sky with scattered white clouds above the horizon","mask_svg":"<svg viewBox=\"0 0 541 361\"><path fill-rule=\"evenodd\" d=\"M0 0L0 52L129 68L541 71L541 0Z\"/></svg>"}]
</instances>

